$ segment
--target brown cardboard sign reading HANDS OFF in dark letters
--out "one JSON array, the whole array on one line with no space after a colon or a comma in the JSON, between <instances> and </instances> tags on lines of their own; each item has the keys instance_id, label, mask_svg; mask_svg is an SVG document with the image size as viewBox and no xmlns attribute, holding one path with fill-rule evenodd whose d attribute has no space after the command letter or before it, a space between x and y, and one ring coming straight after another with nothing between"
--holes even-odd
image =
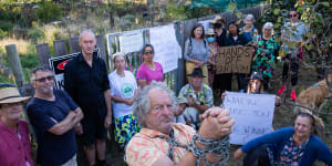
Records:
<instances>
[{"instance_id":1,"label":"brown cardboard sign reading HANDS OFF in dark letters","mask_svg":"<svg viewBox=\"0 0 332 166\"><path fill-rule=\"evenodd\" d=\"M216 72L222 73L246 73L250 72L251 56L253 50L251 46L222 46L218 49L216 56Z\"/></svg>"}]
</instances>

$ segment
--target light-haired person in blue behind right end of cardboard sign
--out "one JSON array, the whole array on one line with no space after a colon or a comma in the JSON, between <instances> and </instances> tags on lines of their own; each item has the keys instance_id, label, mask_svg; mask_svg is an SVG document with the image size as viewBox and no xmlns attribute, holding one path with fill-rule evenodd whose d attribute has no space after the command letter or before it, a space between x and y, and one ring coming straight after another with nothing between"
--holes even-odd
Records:
<instances>
[{"instance_id":1,"label":"light-haired person in blue behind right end of cardboard sign","mask_svg":"<svg viewBox=\"0 0 332 166\"><path fill-rule=\"evenodd\" d=\"M258 31L253 25L255 18L252 14L248 14L243 21L245 21L245 25L242 28L240 28L240 31L245 35L247 43L248 43L256 39Z\"/></svg>"}]
</instances>

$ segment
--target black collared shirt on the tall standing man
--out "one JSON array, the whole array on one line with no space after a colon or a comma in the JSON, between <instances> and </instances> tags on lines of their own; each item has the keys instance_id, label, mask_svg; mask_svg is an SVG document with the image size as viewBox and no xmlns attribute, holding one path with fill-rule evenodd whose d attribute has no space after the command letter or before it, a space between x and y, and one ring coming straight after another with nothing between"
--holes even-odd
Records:
<instances>
[{"instance_id":1,"label":"black collared shirt on the tall standing man","mask_svg":"<svg viewBox=\"0 0 332 166\"><path fill-rule=\"evenodd\" d=\"M110 89L105 62L93 54L92 68L82 53L65 65L64 89L90 121L104 121L107 107L104 92Z\"/></svg>"}]
</instances>

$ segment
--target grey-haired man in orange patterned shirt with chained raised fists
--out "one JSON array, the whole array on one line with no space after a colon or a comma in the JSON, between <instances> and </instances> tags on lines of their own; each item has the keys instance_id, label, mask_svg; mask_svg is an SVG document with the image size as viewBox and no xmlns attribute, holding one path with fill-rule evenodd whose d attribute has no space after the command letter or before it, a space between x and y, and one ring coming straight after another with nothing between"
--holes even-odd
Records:
<instances>
[{"instance_id":1,"label":"grey-haired man in orange patterned shirt with chained raised fists","mask_svg":"<svg viewBox=\"0 0 332 166\"><path fill-rule=\"evenodd\" d=\"M134 114L143 127L128 143L129 166L173 166L221 164L228 158L228 134L234 118L220 107L207 111L199 132L173 123L176 108L174 93L166 84L152 82L134 103Z\"/></svg>"}]
</instances>

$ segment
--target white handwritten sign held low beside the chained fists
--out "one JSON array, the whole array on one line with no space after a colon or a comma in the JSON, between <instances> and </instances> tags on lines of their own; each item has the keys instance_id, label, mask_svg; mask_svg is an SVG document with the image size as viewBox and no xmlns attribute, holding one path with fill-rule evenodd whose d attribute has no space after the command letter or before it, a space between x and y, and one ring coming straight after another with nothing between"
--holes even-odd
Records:
<instances>
[{"instance_id":1,"label":"white handwritten sign held low beside the chained fists","mask_svg":"<svg viewBox=\"0 0 332 166\"><path fill-rule=\"evenodd\" d=\"M236 120L230 144L247 142L272 132L276 95L226 92L224 107Z\"/></svg>"}]
</instances>

